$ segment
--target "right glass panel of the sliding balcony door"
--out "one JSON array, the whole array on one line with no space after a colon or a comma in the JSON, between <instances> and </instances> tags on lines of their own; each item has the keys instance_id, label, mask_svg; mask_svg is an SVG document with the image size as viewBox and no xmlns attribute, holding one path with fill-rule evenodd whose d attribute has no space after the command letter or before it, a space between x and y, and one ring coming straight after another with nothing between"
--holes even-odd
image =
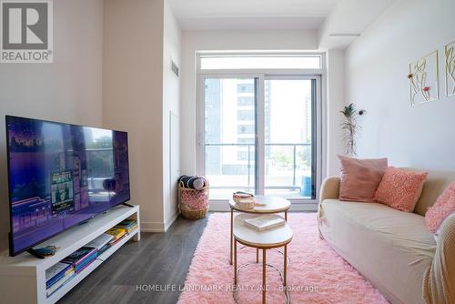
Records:
<instances>
[{"instance_id":1,"label":"right glass panel of the sliding balcony door","mask_svg":"<svg viewBox=\"0 0 455 304\"><path fill-rule=\"evenodd\" d=\"M316 80L266 78L264 193L313 198Z\"/></svg>"}]
</instances>

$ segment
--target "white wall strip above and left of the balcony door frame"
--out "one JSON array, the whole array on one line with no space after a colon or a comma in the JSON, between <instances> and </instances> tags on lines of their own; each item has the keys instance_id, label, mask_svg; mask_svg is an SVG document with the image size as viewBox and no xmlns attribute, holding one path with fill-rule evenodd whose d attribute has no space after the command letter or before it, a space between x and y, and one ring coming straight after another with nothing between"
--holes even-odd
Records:
<instances>
[{"instance_id":1,"label":"white wall strip above and left of the balcony door frame","mask_svg":"<svg viewBox=\"0 0 455 304\"><path fill-rule=\"evenodd\" d=\"M181 169L196 173L196 52L228 50L316 50L316 31L184 31L181 77Z\"/></svg>"}]
</instances>

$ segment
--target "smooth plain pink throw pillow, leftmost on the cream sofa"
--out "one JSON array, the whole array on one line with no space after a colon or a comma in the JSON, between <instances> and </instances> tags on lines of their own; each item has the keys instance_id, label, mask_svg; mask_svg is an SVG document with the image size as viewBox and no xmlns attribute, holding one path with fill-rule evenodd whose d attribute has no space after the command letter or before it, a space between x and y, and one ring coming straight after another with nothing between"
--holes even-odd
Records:
<instances>
[{"instance_id":1,"label":"smooth plain pink throw pillow, leftmost on the cream sofa","mask_svg":"<svg viewBox=\"0 0 455 304\"><path fill-rule=\"evenodd\" d=\"M339 200L373 202L376 189L387 169L387 158L357 159L339 156L339 161Z\"/></svg>"}]
</instances>

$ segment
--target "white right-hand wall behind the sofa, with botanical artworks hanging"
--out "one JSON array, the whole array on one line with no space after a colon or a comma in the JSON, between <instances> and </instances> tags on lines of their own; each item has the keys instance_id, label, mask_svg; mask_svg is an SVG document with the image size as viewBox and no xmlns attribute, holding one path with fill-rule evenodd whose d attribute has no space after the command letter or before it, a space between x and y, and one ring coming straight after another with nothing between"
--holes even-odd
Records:
<instances>
[{"instance_id":1,"label":"white right-hand wall behind the sofa, with botanical artworks hanging","mask_svg":"<svg viewBox=\"0 0 455 304\"><path fill-rule=\"evenodd\" d=\"M455 170L455 96L445 96L443 46L455 40L453 0L402 0L346 54L347 103L362 118L359 157L396 166ZM440 100L410 106L409 64L438 49Z\"/></svg>"}]
</instances>

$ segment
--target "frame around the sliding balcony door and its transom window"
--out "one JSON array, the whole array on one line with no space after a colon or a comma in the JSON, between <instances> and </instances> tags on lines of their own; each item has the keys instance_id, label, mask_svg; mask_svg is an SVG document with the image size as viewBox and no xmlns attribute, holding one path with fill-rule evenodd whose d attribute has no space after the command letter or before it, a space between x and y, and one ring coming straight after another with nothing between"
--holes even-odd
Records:
<instances>
[{"instance_id":1,"label":"frame around the sliding balcony door and its transom window","mask_svg":"<svg viewBox=\"0 0 455 304\"><path fill-rule=\"evenodd\" d=\"M316 81L316 92L314 102L314 127L313 133L316 133L314 143L316 147L313 147L313 160L316 164L313 166L316 170L315 173L315 198L288 198L291 204L317 204L319 203L319 189L322 183L322 179L326 176L324 169L326 168L326 155L327 155L327 143L323 140L326 137L327 128L324 127L326 116L326 81L325 81L325 54L324 53L269 53L268 55L308 55L308 56L320 56L321 68L319 69L229 69L229 70L201 70L200 69L200 57L207 56L206 52L196 53L197 62L197 92L196 92L196 174L205 174L205 79L206 78L258 78L258 113L264 113L264 84L266 79L314 79ZM223 56L238 56L239 53L222 53ZM263 54L263 53L261 53ZM217 53L220 55L220 53ZM255 55L255 53L242 54L244 56ZM258 147L258 177L257 177L257 192L260 194L264 193L264 168L265 168L265 126L264 116L258 116L258 134L262 136L256 137L256 145ZM227 199L211 198L210 201L214 202L227 202Z\"/></svg>"}]
</instances>

